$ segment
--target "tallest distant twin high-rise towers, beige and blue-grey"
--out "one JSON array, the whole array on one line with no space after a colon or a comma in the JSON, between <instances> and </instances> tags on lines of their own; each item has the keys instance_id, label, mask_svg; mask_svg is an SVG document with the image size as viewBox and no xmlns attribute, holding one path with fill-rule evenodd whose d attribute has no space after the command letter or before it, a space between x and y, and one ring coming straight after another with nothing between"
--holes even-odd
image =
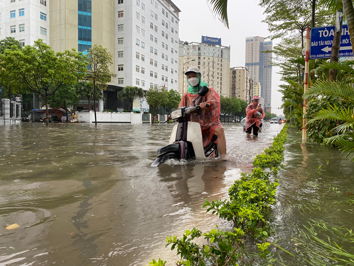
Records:
<instances>
[{"instance_id":1,"label":"tallest distant twin high-rise towers, beige and blue-grey","mask_svg":"<svg viewBox=\"0 0 354 266\"><path fill-rule=\"evenodd\" d=\"M272 41L264 41L259 36L246 38L245 66L250 71L250 77L261 84L264 108L272 106L272 50Z\"/></svg>"}]
</instances>

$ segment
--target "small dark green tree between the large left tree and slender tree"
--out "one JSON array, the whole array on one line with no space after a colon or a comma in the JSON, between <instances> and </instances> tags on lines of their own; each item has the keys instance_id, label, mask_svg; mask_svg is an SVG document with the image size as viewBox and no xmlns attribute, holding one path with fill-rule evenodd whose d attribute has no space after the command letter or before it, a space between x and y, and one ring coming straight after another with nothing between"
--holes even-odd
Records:
<instances>
[{"instance_id":1,"label":"small dark green tree between the large left tree and slender tree","mask_svg":"<svg viewBox=\"0 0 354 266\"><path fill-rule=\"evenodd\" d=\"M67 106L72 106L80 101L75 85L67 84L60 87L54 95L48 97L48 104L52 108L60 108L62 105L66 111L66 122L69 122Z\"/></svg>"}]
</instances>

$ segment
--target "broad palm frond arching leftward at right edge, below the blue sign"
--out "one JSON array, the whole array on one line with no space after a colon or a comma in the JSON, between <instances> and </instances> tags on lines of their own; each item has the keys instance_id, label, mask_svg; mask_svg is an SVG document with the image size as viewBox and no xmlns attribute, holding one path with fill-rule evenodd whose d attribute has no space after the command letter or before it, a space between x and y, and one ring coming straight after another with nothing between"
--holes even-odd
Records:
<instances>
[{"instance_id":1,"label":"broad palm frond arching leftward at right edge, below the blue sign","mask_svg":"<svg viewBox=\"0 0 354 266\"><path fill-rule=\"evenodd\" d=\"M348 84L347 82L326 82L319 81L316 82L312 87L310 87L306 93L304 93L304 98L309 99L312 97L317 97L318 95L326 94L327 96L336 96L345 101L354 101L354 87L353 84Z\"/></svg>"}]
</instances>

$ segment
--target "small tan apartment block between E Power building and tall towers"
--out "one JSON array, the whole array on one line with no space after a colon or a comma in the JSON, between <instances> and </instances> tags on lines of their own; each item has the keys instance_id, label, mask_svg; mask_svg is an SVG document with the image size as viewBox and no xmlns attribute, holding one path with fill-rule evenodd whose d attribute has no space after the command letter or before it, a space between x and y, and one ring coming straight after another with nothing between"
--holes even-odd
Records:
<instances>
[{"instance_id":1,"label":"small tan apartment block between E Power building and tall towers","mask_svg":"<svg viewBox=\"0 0 354 266\"><path fill-rule=\"evenodd\" d=\"M246 67L230 68L230 97L249 101L249 71Z\"/></svg>"}]
</instances>

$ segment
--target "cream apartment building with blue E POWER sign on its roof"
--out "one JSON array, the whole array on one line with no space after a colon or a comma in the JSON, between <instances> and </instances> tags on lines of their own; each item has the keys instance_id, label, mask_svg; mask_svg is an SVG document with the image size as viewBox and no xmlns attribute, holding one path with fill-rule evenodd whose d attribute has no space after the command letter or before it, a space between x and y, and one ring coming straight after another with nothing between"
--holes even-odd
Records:
<instances>
[{"instance_id":1,"label":"cream apartment building with blue E POWER sign on its roof","mask_svg":"<svg viewBox=\"0 0 354 266\"><path fill-rule=\"evenodd\" d=\"M202 36L201 43L179 41L180 94L188 89L184 73L192 66L200 69L201 80L209 87L219 95L230 97L230 46L222 46L221 39L206 36Z\"/></svg>"}]
</instances>

